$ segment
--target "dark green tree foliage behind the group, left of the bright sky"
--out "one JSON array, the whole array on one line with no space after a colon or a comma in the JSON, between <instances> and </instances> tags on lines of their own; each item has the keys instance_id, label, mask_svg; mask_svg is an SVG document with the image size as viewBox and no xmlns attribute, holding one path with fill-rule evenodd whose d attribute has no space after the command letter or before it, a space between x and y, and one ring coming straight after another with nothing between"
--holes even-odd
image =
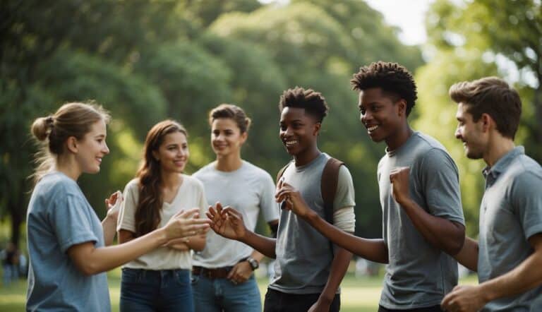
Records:
<instances>
[{"instance_id":1,"label":"dark green tree foliage behind the group, left of the bright sky","mask_svg":"<svg viewBox=\"0 0 542 312\"><path fill-rule=\"evenodd\" d=\"M30 124L64 102L96 100L112 112L111 155L100 174L79 181L103 215L103 198L133 177L157 121L188 128L187 172L214 159L207 113L222 102L253 119L243 157L275 175L289 160L278 139L279 96L301 85L330 104L320 148L354 176L359 234L380 236L375 171L383 145L360 126L349 80L370 61L413 70L422 61L418 47L401 44L362 1L28 0L2 1L0 9L0 215L16 220L13 227L31 188Z\"/></svg>"}]
</instances>

